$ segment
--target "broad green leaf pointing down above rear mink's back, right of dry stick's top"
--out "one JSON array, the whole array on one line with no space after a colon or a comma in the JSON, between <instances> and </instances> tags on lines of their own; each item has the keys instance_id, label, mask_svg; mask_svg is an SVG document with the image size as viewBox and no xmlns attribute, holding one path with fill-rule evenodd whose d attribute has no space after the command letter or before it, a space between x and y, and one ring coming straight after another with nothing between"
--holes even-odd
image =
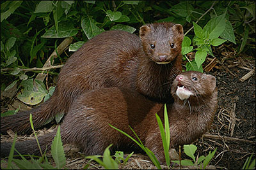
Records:
<instances>
[{"instance_id":1,"label":"broad green leaf pointing down above rear mink's back, right of dry stick's top","mask_svg":"<svg viewBox=\"0 0 256 170\"><path fill-rule=\"evenodd\" d=\"M81 27L88 39L92 39L94 36L104 32L104 29L97 27L96 22L93 20L92 16L83 16L81 19Z\"/></svg>"}]
</instances>

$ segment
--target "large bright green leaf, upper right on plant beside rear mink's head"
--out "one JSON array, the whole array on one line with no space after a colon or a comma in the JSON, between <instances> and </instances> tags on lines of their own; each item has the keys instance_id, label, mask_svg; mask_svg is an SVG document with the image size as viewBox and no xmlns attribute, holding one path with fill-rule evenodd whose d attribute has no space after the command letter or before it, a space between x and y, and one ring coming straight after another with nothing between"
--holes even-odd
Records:
<instances>
[{"instance_id":1,"label":"large bright green leaf, upper right on plant beside rear mink's head","mask_svg":"<svg viewBox=\"0 0 256 170\"><path fill-rule=\"evenodd\" d=\"M203 31L207 32L208 39L218 38L225 30L225 25L226 18L225 14L223 14L209 20L209 22L204 26Z\"/></svg>"}]
</instances>

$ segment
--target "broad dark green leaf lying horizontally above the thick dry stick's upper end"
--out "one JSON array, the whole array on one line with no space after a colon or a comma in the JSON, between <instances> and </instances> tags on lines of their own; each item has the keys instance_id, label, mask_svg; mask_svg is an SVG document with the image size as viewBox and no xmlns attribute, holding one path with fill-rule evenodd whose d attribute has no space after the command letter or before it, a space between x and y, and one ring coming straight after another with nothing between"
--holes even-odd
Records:
<instances>
[{"instance_id":1,"label":"broad dark green leaf lying horizontally above the thick dry stick's upper end","mask_svg":"<svg viewBox=\"0 0 256 170\"><path fill-rule=\"evenodd\" d=\"M67 38L70 36L75 36L77 34L77 29L74 28L72 23L60 22L58 23L58 33L55 26L52 26L49 30L42 35L42 38Z\"/></svg>"}]
</instances>

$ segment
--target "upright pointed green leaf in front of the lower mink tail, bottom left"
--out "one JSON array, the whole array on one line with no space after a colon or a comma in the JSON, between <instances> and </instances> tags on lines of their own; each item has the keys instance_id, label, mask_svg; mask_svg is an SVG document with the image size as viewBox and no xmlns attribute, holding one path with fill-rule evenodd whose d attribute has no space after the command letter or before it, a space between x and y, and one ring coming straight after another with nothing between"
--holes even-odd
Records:
<instances>
[{"instance_id":1,"label":"upright pointed green leaf in front of the lower mink tail, bottom left","mask_svg":"<svg viewBox=\"0 0 256 170\"><path fill-rule=\"evenodd\" d=\"M58 127L56 136L52 141L51 153L52 153L52 158L56 163L57 169L62 169L66 164L66 158L65 158L65 153L63 150L63 145L62 145L61 136L60 136L60 125Z\"/></svg>"}]
</instances>

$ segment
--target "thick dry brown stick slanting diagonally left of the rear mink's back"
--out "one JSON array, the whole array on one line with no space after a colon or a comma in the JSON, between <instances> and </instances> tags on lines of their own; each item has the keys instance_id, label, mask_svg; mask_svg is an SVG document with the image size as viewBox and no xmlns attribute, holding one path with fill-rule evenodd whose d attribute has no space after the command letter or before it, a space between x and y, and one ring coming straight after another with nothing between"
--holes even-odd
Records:
<instances>
[{"instance_id":1,"label":"thick dry brown stick slanting diagonally left of the rear mink's back","mask_svg":"<svg viewBox=\"0 0 256 170\"><path fill-rule=\"evenodd\" d=\"M46 68L46 67L51 67L51 60L52 63L54 62L54 58L56 58L58 55L57 53L60 55L61 53L63 53L63 51L68 47L68 45L70 45L70 43L72 43L73 38L72 37L68 37L65 38L60 45L57 47L57 52L56 50L54 50L54 52L52 52L52 54L50 55L49 59L47 59L47 61L45 62L44 66L42 68ZM40 81L44 81L46 74L45 73L38 73L36 76L36 80L40 80Z\"/></svg>"}]
</instances>

